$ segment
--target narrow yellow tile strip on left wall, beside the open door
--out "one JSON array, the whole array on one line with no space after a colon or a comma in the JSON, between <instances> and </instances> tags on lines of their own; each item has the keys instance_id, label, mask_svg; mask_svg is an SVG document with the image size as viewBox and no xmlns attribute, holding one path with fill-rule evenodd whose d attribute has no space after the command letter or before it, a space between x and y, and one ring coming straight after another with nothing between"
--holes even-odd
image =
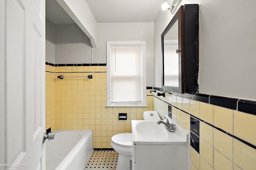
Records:
<instances>
[{"instance_id":1,"label":"narrow yellow tile strip on left wall, beside the open door","mask_svg":"<svg viewBox=\"0 0 256 170\"><path fill-rule=\"evenodd\" d=\"M55 130L55 84L54 66L45 65L45 128Z\"/></svg>"}]
</instances>

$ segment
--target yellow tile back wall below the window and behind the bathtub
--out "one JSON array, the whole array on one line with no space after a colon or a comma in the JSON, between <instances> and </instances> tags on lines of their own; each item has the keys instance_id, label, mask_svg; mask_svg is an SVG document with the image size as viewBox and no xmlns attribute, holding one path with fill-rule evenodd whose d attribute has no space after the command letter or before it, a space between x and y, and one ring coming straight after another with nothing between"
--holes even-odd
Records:
<instances>
[{"instance_id":1,"label":"yellow tile back wall below the window and behind the bathtub","mask_svg":"<svg viewBox=\"0 0 256 170\"><path fill-rule=\"evenodd\" d=\"M55 72L64 72L55 74L55 78L64 75L64 79L55 81L56 129L90 129L94 148L112 148L110 141L113 135L131 133L131 120L140 120L144 111L154 110L150 90L147 90L149 107L105 107L106 66L63 66L55 67ZM92 79L76 78L88 75L92 75ZM118 120L118 113L127 113L127 120Z\"/></svg>"}]
</instances>

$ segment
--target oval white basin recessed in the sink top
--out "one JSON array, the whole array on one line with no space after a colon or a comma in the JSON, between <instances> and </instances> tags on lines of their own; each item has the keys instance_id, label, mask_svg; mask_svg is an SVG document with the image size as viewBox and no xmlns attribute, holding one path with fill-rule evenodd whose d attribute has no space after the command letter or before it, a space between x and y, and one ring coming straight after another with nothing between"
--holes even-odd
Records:
<instances>
[{"instance_id":1,"label":"oval white basin recessed in the sink top","mask_svg":"<svg viewBox=\"0 0 256 170\"><path fill-rule=\"evenodd\" d=\"M168 131L154 121L141 121L135 129L144 139L162 140L168 137Z\"/></svg>"}]
</instances>

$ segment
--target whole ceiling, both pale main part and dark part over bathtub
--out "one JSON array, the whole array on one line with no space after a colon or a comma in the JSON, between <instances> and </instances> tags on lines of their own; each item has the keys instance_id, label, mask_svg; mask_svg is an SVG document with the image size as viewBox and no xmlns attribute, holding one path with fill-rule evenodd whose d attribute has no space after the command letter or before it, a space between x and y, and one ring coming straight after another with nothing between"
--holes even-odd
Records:
<instances>
[{"instance_id":1,"label":"whole ceiling, both pale main part and dark part over bathtub","mask_svg":"<svg viewBox=\"0 0 256 170\"><path fill-rule=\"evenodd\" d=\"M97 22L154 22L163 0L86 0ZM56 0L46 0L46 18L75 23Z\"/></svg>"}]
</instances>

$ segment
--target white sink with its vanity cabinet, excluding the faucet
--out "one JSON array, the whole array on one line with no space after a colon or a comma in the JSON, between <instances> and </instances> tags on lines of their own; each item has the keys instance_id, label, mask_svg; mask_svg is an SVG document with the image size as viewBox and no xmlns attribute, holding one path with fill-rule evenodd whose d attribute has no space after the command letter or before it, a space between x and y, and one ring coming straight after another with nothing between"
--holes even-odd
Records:
<instances>
[{"instance_id":1,"label":"white sink with its vanity cabinet, excluding the faucet","mask_svg":"<svg viewBox=\"0 0 256 170\"><path fill-rule=\"evenodd\" d=\"M174 133L156 121L132 120L133 170L188 170L189 133L176 122Z\"/></svg>"}]
</instances>

